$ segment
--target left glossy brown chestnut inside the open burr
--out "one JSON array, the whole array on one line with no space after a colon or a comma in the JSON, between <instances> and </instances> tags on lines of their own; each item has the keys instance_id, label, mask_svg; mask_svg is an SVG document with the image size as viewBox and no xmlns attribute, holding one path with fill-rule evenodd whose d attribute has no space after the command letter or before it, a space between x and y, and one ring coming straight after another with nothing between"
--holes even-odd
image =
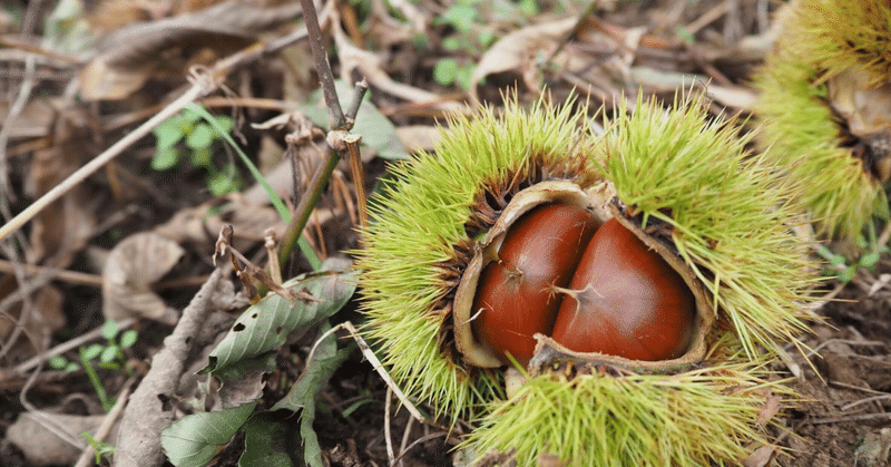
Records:
<instances>
[{"instance_id":1,"label":"left glossy brown chestnut inside the open burr","mask_svg":"<svg viewBox=\"0 0 891 467\"><path fill-rule=\"evenodd\" d=\"M477 340L505 364L511 354L526 366L537 332L554 328L560 294L596 230L591 213L571 204L538 206L510 228L480 275L471 327ZM479 312L479 313L478 313Z\"/></svg>"}]
</instances>

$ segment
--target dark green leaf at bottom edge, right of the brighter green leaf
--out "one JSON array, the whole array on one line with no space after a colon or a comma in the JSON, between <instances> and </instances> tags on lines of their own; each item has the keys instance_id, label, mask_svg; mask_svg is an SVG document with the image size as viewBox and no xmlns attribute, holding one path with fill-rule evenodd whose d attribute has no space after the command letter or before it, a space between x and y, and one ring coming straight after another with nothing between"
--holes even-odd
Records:
<instances>
[{"instance_id":1,"label":"dark green leaf at bottom edge, right of the brighter green leaf","mask_svg":"<svg viewBox=\"0 0 891 467\"><path fill-rule=\"evenodd\" d=\"M300 434L294 424L278 420L271 412L252 417L244 425L244 453L239 467L294 467L302 466L300 458Z\"/></svg>"}]
</instances>

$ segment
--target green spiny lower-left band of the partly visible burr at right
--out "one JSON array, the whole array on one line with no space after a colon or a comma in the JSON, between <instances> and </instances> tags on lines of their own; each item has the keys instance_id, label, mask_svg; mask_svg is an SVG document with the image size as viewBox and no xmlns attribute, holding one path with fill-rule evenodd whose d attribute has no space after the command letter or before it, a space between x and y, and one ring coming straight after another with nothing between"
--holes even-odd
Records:
<instances>
[{"instance_id":1,"label":"green spiny lower-left band of the partly visible burr at right","mask_svg":"<svg viewBox=\"0 0 891 467\"><path fill-rule=\"evenodd\" d=\"M801 182L800 200L809 206L819 234L855 239L873 213L888 212L888 200L863 160L843 147L826 85L815 80L815 71L796 55L768 57L755 80L761 91L756 111L763 121L758 143Z\"/></svg>"}]
</instances>

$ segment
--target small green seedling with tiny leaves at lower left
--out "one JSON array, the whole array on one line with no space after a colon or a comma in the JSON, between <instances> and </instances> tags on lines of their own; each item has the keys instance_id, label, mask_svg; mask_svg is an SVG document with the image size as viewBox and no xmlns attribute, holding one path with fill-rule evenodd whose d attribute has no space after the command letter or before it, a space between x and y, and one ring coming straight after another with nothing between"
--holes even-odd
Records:
<instances>
[{"instance_id":1,"label":"small green seedling with tiny leaves at lower left","mask_svg":"<svg viewBox=\"0 0 891 467\"><path fill-rule=\"evenodd\" d=\"M124 354L123 349L133 347L139 334L131 329L119 332L116 321L106 320L102 324L102 337L106 340L105 343L81 346L78 349L78 361L68 360L63 356L53 356L47 360L47 363L53 370L67 372L82 368L96 390L102 408L108 411L115 405L115 401L114 398L109 398L106 393L105 386L102 386L99 374L96 373L96 368L129 373L129 369L126 366L127 357Z\"/></svg>"}]
</instances>

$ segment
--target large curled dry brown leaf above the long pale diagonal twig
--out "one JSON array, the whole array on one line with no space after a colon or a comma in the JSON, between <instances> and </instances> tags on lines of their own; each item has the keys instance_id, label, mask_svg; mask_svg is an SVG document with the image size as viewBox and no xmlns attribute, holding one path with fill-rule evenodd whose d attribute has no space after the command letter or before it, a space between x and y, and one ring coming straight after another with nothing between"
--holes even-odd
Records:
<instances>
[{"instance_id":1,"label":"large curled dry brown leaf above the long pale diagonal twig","mask_svg":"<svg viewBox=\"0 0 891 467\"><path fill-rule=\"evenodd\" d=\"M194 13L126 26L97 45L98 55L80 72L81 96L86 100L126 98L161 67L194 65L187 59L159 59L167 50L210 48L231 53L301 12L300 3L258 8L229 1ZM177 72L185 77L185 70Z\"/></svg>"}]
</instances>

